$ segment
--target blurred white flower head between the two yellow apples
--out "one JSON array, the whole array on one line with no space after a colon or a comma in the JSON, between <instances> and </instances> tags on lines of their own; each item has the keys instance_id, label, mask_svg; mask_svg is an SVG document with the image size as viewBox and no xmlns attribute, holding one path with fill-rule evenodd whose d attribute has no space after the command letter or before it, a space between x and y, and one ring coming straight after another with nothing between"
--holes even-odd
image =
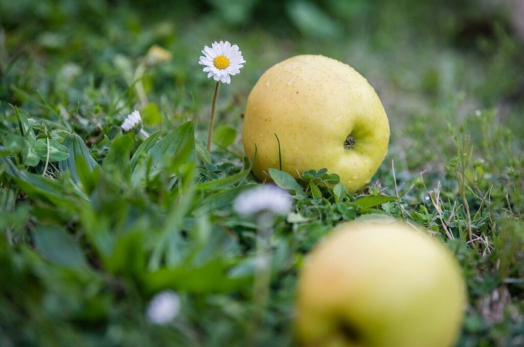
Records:
<instances>
[{"instance_id":1,"label":"blurred white flower head between the two yellow apples","mask_svg":"<svg viewBox=\"0 0 524 347\"><path fill-rule=\"evenodd\" d=\"M291 195L275 185L258 186L242 192L236 197L233 208L238 214L249 215L258 212L287 214L292 207Z\"/></svg>"}]
</instances>

